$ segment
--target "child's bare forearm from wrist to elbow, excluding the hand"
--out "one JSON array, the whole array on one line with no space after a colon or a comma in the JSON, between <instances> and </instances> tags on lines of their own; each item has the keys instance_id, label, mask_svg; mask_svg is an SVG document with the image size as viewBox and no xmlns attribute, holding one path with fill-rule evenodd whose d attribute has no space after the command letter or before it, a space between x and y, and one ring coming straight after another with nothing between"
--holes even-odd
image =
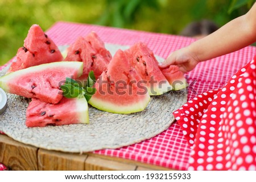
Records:
<instances>
[{"instance_id":1,"label":"child's bare forearm from wrist to elbow, excluding the hand","mask_svg":"<svg viewBox=\"0 0 256 182\"><path fill-rule=\"evenodd\" d=\"M251 14L240 16L225 24L211 35L188 46L199 61L206 61L239 50L256 41L255 25Z\"/></svg>"}]
</instances>

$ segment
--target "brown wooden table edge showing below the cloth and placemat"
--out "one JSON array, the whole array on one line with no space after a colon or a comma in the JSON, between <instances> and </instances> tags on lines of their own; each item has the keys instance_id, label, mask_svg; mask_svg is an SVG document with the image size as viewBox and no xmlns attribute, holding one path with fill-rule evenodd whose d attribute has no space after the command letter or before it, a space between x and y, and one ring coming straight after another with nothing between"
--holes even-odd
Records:
<instances>
[{"instance_id":1,"label":"brown wooden table edge showing below the cloth and placemat","mask_svg":"<svg viewBox=\"0 0 256 182\"><path fill-rule=\"evenodd\" d=\"M93 153L75 154L40 149L0 134L0 162L11 170L94 171L170 170L159 166Z\"/></svg>"}]
</instances>

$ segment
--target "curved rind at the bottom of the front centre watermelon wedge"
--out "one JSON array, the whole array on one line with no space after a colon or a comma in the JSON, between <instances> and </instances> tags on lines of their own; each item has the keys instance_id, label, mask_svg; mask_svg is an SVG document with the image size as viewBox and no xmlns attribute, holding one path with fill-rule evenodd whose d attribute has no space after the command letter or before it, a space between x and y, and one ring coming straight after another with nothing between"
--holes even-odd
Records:
<instances>
[{"instance_id":1,"label":"curved rind at the bottom of the front centre watermelon wedge","mask_svg":"<svg viewBox=\"0 0 256 182\"><path fill-rule=\"evenodd\" d=\"M146 95L143 100L138 101L137 103L130 105L117 105L110 103L109 101L104 101L101 99L97 99L92 96L92 98L88 101L90 105L94 108L97 108L101 111L117 113L117 114L130 114L135 112L143 111L148 103L150 102L150 95Z\"/></svg>"}]
</instances>

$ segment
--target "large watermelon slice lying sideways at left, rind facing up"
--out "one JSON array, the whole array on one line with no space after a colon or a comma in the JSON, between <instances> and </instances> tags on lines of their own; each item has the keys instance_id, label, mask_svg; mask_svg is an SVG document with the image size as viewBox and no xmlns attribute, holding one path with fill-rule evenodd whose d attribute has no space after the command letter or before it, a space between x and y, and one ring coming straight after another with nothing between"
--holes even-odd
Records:
<instances>
[{"instance_id":1,"label":"large watermelon slice lying sideways at left, rind facing up","mask_svg":"<svg viewBox=\"0 0 256 182\"><path fill-rule=\"evenodd\" d=\"M76 79L81 74L82 62L52 62L6 74L0 78L0 87L11 94L56 104L63 98L60 84L66 77Z\"/></svg>"}]
</instances>

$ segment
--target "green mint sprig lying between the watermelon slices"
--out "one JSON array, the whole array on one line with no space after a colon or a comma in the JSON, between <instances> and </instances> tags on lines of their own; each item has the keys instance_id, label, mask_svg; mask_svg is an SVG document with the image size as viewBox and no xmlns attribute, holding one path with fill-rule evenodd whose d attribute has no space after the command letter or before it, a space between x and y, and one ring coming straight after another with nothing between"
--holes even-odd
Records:
<instances>
[{"instance_id":1,"label":"green mint sprig lying between the watermelon slices","mask_svg":"<svg viewBox=\"0 0 256 182\"><path fill-rule=\"evenodd\" d=\"M96 78L94 73L93 71L90 71L85 87L82 87L72 78L66 78L65 83L60 86L60 88L63 91L63 96L65 98L77 98L83 95L85 99L89 101L96 92L96 88L93 88L95 82Z\"/></svg>"}]
</instances>

